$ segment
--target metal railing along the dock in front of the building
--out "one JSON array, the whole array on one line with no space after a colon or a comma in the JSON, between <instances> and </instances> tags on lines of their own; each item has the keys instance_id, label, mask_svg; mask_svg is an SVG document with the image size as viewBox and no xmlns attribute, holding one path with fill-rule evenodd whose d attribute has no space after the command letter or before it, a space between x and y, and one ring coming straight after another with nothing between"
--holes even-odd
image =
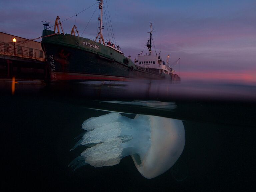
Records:
<instances>
[{"instance_id":1,"label":"metal railing along the dock in front of the building","mask_svg":"<svg viewBox=\"0 0 256 192\"><path fill-rule=\"evenodd\" d=\"M0 55L45 61L44 58L37 57L35 51L27 51L27 50L17 49L17 48L10 47L10 46L6 47L4 45L0 45Z\"/></svg>"}]
</instances>

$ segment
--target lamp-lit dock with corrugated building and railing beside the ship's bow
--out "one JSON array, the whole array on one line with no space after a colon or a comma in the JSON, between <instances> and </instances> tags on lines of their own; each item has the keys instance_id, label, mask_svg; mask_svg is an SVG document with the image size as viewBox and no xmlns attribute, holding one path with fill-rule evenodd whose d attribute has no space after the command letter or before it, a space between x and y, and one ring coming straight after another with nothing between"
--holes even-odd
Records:
<instances>
[{"instance_id":1,"label":"lamp-lit dock with corrugated building and railing beside the ship's bow","mask_svg":"<svg viewBox=\"0 0 256 192\"><path fill-rule=\"evenodd\" d=\"M0 32L0 77L46 76L41 43Z\"/></svg>"}]
</instances>

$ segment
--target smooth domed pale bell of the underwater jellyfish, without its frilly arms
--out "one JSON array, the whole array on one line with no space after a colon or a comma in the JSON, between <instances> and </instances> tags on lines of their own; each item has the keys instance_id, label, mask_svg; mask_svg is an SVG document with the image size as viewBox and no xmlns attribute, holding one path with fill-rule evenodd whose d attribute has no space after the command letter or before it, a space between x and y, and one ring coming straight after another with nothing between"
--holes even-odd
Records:
<instances>
[{"instance_id":1,"label":"smooth domed pale bell of the underwater jellyfish, without its frilly arms","mask_svg":"<svg viewBox=\"0 0 256 192\"><path fill-rule=\"evenodd\" d=\"M136 117L135 117L136 118ZM185 130L181 120L150 116L151 147L137 160L131 155L138 171L151 179L170 169L185 146Z\"/></svg>"}]
</instances>

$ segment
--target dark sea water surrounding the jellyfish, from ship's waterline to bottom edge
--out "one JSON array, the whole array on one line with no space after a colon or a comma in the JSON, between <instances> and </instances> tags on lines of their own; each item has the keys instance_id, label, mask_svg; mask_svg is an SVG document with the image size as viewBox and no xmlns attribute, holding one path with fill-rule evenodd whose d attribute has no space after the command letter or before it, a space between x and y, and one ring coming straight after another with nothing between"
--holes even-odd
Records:
<instances>
[{"instance_id":1,"label":"dark sea water surrounding the jellyfish, from ship's waterline to bottom edge","mask_svg":"<svg viewBox=\"0 0 256 192\"><path fill-rule=\"evenodd\" d=\"M0 80L0 191L255 190L253 83L16 79L13 94L12 83ZM82 123L112 111L182 120L185 147L174 166L153 179L130 156L114 166L68 167L85 150L70 151Z\"/></svg>"}]
</instances>

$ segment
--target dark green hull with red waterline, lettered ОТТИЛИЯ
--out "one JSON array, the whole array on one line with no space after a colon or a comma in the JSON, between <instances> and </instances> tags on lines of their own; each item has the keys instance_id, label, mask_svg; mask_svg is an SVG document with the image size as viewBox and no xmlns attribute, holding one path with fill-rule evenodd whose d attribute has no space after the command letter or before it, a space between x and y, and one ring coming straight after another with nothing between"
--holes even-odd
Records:
<instances>
[{"instance_id":1,"label":"dark green hull with red waterline, lettered \u041e\u0422\u0422\u0418\u041b\u0418\u042f","mask_svg":"<svg viewBox=\"0 0 256 192\"><path fill-rule=\"evenodd\" d=\"M134 65L121 52L83 37L43 30L41 43L51 80L130 81L136 78L164 78Z\"/></svg>"}]
</instances>

